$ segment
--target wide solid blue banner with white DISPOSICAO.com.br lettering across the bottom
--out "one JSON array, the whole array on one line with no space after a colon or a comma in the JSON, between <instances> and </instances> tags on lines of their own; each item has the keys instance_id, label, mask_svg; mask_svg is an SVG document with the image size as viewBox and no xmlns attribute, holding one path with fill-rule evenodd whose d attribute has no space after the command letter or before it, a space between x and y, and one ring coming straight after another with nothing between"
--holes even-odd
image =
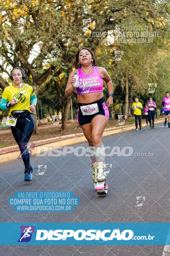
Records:
<instances>
[{"instance_id":1,"label":"wide solid blue banner with white DISPOSICAO.com.br lettering across the bottom","mask_svg":"<svg viewBox=\"0 0 170 256\"><path fill-rule=\"evenodd\" d=\"M165 245L170 223L0 223L1 245Z\"/></svg>"}]
</instances>

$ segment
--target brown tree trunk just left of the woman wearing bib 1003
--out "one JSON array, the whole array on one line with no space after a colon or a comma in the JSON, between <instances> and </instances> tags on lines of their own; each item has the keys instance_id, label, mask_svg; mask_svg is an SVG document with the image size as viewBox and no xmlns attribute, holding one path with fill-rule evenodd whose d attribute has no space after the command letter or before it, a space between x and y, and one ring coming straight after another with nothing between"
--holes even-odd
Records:
<instances>
[{"instance_id":1,"label":"brown tree trunk just left of the woman wearing bib 1003","mask_svg":"<svg viewBox=\"0 0 170 256\"><path fill-rule=\"evenodd\" d=\"M71 106L71 96L62 98L62 126L60 131L66 131L67 120Z\"/></svg>"}]
</instances>

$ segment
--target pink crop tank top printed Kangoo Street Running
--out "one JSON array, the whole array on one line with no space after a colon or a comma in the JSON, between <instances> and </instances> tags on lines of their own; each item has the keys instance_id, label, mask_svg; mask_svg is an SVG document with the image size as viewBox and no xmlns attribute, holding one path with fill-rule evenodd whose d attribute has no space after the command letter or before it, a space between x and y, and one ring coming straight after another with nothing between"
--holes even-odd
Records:
<instances>
[{"instance_id":1,"label":"pink crop tank top printed Kangoo Street Running","mask_svg":"<svg viewBox=\"0 0 170 256\"><path fill-rule=\"evenodd\" d=\"M100 76L98 67L93 67L93 72L90 75L85 75L82 68L78 69L79 87L76 87L77 94L85 93L100 93L103 91L103 79Z\"/></svg>"}]
</instances>

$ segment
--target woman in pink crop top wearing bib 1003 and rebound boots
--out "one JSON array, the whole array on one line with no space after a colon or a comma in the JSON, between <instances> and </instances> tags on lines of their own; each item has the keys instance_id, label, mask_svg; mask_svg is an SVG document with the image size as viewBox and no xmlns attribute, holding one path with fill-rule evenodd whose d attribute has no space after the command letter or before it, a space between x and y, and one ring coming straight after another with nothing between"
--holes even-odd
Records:
<instances>
[{"instance_id":1,"label":"woman in pink crop top wearing bib 1003 and rebound boots","mask_svg":"<svg viewBox=\"0 0 170 256\"><path fill-rule=\"evenodd\" d=\"M74 73L79 76L77 90L79 125L88 140L88 153L91 156L91 166L94 169L94 187L98 194L107 194L108 186L105 174L105 148L102 134L109 119L109 111L113 105L113 85L111 77L103 67L95 66L94 53L88 48L79 49L74 61L73 70L68 78L65 96L71 96L75 87ZM108 87L108 100L103 99L103 80Z\"/></svg>"}]
</instances>

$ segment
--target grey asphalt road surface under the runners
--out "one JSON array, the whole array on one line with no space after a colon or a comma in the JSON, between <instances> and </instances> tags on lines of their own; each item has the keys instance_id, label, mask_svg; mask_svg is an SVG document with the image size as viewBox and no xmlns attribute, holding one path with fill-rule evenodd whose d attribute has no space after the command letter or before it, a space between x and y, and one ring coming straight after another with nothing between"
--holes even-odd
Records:
<instances>
[{"instance_id":1,"label":"grey asphalt road surface under the runners","mask_svg":"<svg viewBox=\"0 0 170 256\"><path fill-rule=\"evenodd\" d=\"M169 222L170 221L170 129L157 124L155 130L128 131L103 137L105 146L114 146L105 163L112 164L108 195L98 196L92 181L90 157L31 157L31 163L46 165L44 175L24 182L22 160L0 164L1 222ZM87 143L72 145L85 146ZM116 146L116 147L115 147ZM129 147L130 151L124 147ZM123 153L121 155L120 151ZM108 153L107 150L106 152ZM130 152L130 156L125 154ZM142 152L142 154L141 154ZM148 155L150 152L150 156ZM135 156L135 154L137 156ZM73 212L15 212L8 198L16 191L72 191L79 197ZM136 207L136 197L145 201ZM21 249L22 248L22 249ZM65 246L0 246L0 256L161 256L164 246L65 245ZM169 254L170 255L170 254Z\"/></svg>"}]
</instances>

